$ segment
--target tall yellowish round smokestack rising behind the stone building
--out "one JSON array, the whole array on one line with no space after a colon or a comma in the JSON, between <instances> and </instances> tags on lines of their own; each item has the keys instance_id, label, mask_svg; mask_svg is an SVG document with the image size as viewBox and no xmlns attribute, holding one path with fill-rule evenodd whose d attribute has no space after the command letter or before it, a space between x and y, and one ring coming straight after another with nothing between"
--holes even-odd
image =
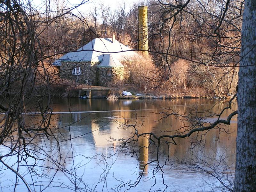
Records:
<instances>
[{"instance_id":1,"label":"tall yellowish round smokestack rising behind the stone building","mask_svg":"<svg viewBox=\"0 0 256 192\"><path fill-rule=\"evenodd\" d=\"M148 55L148 6L138 6L138 49L144 50L143 55Z\"/></svg>"}]
</instances>

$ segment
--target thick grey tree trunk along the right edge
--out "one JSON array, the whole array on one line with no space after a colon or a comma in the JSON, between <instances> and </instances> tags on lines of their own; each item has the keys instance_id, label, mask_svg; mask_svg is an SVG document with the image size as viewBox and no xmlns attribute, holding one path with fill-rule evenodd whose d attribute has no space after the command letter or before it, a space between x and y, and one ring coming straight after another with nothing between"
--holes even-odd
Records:
<instances>
[{"instance_id":1,"label":"thick grey tree trunk along the right edge","mask_svg":"<svg viewBox=\"0 0 256 192\"><path fill-rule=\"evenodd\" d=\"M256 191L256 1L244 6L234 191Z\"/></svg>"}]
</instances>

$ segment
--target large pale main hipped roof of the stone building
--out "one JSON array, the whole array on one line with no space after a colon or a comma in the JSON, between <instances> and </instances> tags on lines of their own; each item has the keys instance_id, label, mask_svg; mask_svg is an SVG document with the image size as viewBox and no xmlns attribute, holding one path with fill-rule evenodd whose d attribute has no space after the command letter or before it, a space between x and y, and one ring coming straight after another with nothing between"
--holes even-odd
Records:
<instances>
[{"instance_id":1,"label":"large pale main hipped roof of the stone building","mask_svg":"<svg viewBox=\"0 0 256 192\"><path fill-rule=\"evenodd\" d=\"M61 66L61 61L99 62L103 60L104 53L111 53L111 56L118 61L132 60L132 57L140 57L137 52L132 51L131 48L121 44L117 40L112 43L112 39L110 38L95 38L76 52L69 52L63 55L53 65Z\"/></svg>"}]
</instances>

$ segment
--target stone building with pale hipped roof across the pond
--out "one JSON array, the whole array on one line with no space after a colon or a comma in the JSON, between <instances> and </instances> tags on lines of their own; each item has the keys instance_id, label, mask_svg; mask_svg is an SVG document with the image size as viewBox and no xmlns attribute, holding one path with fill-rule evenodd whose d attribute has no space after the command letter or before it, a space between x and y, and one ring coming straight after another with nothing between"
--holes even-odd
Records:
<instances>
[{"instance_id":1,"label":"stone building with pale hipped roof across the pond","mask_svg":"<svg viewBox=\"0 0 256 192\"><path fill-rule=\"evenodd\" d=\"M69 52L53 65L60 78L79 83L108 86L125 79L125 62L141 57L113 38L95 38L76 52Z\"/></svg>"}]
</instances>

